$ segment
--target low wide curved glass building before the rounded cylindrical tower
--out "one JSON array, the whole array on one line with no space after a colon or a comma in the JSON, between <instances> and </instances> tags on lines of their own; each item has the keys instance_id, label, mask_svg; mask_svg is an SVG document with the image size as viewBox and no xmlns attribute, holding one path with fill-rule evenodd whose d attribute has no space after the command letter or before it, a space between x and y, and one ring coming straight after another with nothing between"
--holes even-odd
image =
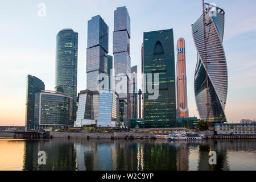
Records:
<instances>
[{"instance_id":1,"label":"low wide curved glass building before the rounded cylindrical tower","mask_svg":"<svg viewBox=\"0 0 256 182\"><path fill-rule=\"evenodd\" d=\"M35 129L73 126L73 97L55 91L35 94Z\"/></svg>"}]
</instances>

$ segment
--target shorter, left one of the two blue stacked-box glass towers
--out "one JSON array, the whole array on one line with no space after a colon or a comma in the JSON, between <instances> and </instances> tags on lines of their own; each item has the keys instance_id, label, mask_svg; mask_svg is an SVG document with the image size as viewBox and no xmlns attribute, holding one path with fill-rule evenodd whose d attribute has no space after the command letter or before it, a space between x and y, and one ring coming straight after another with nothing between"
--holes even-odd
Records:
<instances>
[{"instance_id":1,"label":"shorter, left one of the two blue stacked-box glass towers","mask_svg":"<svg viewBox=\"0 0 256 182\"><path fill-rule=\"evenodd\" d=\"M108 77L108 52L109 52L109 27L104 22L100 15L93 16L88 21L88 39L86 49L86 73L87 81L86 88L91 91L96 91L93 94L93 118L98 118L98 105L101 78L98 76L104 73Z\"/></svg>"}]
</instances>

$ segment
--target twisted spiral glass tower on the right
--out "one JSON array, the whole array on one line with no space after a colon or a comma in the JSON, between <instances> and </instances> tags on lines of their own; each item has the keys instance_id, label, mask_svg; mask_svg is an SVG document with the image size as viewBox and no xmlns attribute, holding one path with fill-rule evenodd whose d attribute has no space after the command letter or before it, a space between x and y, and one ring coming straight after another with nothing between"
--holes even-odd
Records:
<instances>
[{"instance_id":1,"label":"twisted spiral glass tower on the right","mask_svg":"<svg viewBox=\"0 0 256 182\"><path fill-rule=\"evenodd\" d=\"M225 12L218 7L210 7L207 3L205 5L205 22L201 15L192 24L197 50L195 97L200 118L209 121L212 126L216 122L226 122L224 109L228 91L228 69L222 46Z\"/></svg>"}]
</instances>

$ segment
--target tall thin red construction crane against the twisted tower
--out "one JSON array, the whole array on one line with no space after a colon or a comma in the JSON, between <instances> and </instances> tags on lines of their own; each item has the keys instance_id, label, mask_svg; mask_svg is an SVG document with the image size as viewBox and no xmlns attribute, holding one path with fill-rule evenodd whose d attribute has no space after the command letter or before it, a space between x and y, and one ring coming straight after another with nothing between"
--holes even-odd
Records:
<instances>
[{"instance_id":1,"label":"tall thin red construction crane against the twisted tower","mask_svg":"<svg viewBox=\"0 0 256 182\"><path fill-rule=\"evenodd\" d=\"M207 84L207 122L209 125L210 117L210 104L209 104L209 78L208 78L208 68L207 68L207 36L206 36L206 26L205 26L205 3L203 0L203 25L204 25L204 59L205 59L205 75L206 75L206 84ZM202 60L203 61L203 60Z\"/></svg>"}]
</instances>

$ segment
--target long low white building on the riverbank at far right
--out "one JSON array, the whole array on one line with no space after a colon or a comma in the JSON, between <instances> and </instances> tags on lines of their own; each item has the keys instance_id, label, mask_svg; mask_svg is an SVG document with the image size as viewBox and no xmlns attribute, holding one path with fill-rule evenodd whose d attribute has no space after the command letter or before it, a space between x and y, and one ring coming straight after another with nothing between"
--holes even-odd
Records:
<instances>
[{"instance_id":1,"label":"long low white building on the riverbank at far right","mask_svg":"<svg viewBox=\"0 0 256 182\"><path fill-rule=\"evenodd\" d=\"M256 135L256 123L216 123L217 135Z\"/></svg>"}]
</instances>

